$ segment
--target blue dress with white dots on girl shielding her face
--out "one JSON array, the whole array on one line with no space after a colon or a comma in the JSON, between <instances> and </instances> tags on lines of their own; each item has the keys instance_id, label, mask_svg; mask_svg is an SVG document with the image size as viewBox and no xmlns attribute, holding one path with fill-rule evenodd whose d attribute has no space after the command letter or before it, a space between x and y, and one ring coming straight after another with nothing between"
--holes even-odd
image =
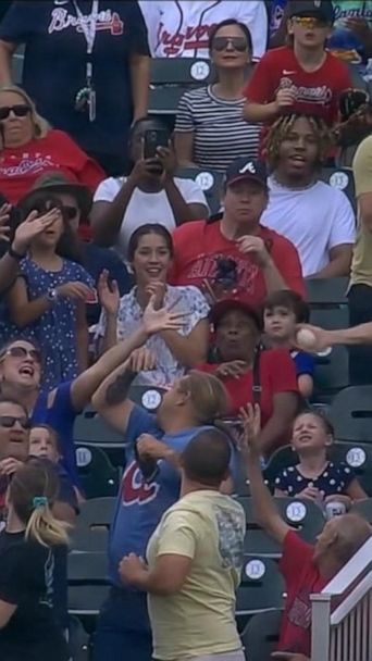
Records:
<instances>
[{"instance_id":1,"label":"blue dress with white dots on girl shielding her face","mask_svg":"<svg viewBox=\"0 0 372 661\"><path fill-rule=\"evenodd\" d=\"M60 271L45 271L26 258L20 263L20 273L25 279L30 301L45 296L48 289L70 282L85 283L90 288L95 286L80 264L65 259ZM76 301L58 298L36 322L24 328L13 325L9 330L10 337L35 339L39 345L44 359L45 388L54 388L77 376Z\"/></svg>"}]
</instances>

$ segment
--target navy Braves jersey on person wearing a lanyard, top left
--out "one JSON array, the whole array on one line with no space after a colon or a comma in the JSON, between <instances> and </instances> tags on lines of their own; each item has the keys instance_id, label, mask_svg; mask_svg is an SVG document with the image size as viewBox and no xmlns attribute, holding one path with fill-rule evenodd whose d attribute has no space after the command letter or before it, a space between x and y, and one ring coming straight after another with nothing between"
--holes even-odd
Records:
<instances>
[{"instance_id":1,"label":"navy Braves jersey on person wearing a lanyard, top left","mask_svg":"<svg viewBox=\"0 0 372 661\"><path fill-rule=\"evenodd\" d=\"M77 0L87 25L92 1ZM100 0L92 50L96 120L75 110L86 84L87 41L73 0L17 1L0 25L0 38L25 43L23 87L39 113L86 151L122 155L132 122L129 55L149 54L137 2Z\"/></svg>"}]
</instances>

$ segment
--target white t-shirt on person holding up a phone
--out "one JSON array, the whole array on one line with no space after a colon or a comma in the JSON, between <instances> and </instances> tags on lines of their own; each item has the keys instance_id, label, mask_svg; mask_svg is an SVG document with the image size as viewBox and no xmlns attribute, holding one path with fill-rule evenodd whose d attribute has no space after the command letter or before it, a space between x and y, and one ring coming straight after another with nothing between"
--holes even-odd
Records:
<instances>
[{"instance_id":1,"label":"white t-shirt on person holding up a phone","mask_svg":"<svg viewBox=\"0 0 372 661\"><path fill-rule=\"evenodd\" d=\"M112 202L125 180L126 177L109 177L104 179L98 186L94 201ZM206 196L196 182L174 177L174 183L187 204L204 204L206 213L208 212ZM160 223L170 232L173 232L175 228L176 224L172 207L164 190L160 190L160 192L144 192L139 188L136 188L133 191L123 217L117 241L117 248L124 259L126 258L131 236L137 227L146 223Z\"/></svg>"}]
</instances>

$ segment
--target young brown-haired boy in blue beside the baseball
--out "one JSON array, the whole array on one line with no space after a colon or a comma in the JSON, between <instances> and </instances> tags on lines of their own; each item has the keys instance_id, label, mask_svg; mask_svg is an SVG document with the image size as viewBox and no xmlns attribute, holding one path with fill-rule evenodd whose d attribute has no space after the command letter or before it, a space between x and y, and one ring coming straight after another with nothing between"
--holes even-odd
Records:
<instances>
[{"instance_id":1,"label":"young brown-haired boy in blue beside the baseball","mask_svg":"<svg viewBox=\"0 0 372 661\"><path fill-rule=\"evenodd\" d=\"M296 366L298 389L308 399L313 390L314 358L297 351L293 345L297 324L309 322L310 309L303 299L289 289L270 294L263 303L263 326L271 349L287 348Z\"/></svg>"}]
</instances>

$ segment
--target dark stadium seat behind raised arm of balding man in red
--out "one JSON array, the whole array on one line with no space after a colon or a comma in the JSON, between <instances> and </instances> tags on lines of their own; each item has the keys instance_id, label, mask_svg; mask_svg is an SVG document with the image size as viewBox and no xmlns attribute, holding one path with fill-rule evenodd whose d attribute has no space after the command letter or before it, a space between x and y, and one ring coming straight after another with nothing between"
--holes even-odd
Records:
<instances>
[{"instance_id":1,"label":"dark stadium seat behind raised arm of balding man in red","mask_svg":"<svg viewBox=\"0 0 372 661\"><path fill-rule=\"evenodd\" d=\"M282 549L257 524L251 498L239 498L247 519L247 535L244 552L247 556L280 558ZM297 498L275 498L277 510L286 523L297 529L305 541L313 544L324 525L323 511L312 501Z\"/></svg>"}]
</instances>

